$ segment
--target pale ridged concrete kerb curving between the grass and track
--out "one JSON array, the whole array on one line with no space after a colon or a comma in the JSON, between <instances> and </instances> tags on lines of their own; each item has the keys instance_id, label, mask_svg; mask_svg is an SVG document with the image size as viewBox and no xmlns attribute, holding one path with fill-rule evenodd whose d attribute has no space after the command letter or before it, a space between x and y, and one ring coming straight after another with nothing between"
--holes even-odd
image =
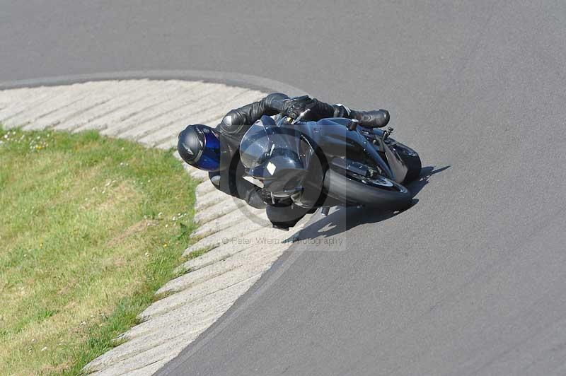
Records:
<instances>
[{"instance_id":1,"label":"pale ridged concrete kerb curving between the grass and track","mask_svg":"<svg viewBox=\"0 0 566 376\"><path fill-rule=\"evenodd\" d=\"M197 82L183 83L187 80ZM200 119L218 120L221 112L244 104L238 100L257 100L267 92L305 94L284 83L243 74L100 73L0 83L0 117L11 119L8 122L11 126L26 124L24 129L103 129L104 134L167 148L173 145L177 127L185 121L183 116L186 114L187 121L192 119L191 112L183 110L184 104L199 100L199 95L191 88L202 88L206 83L212 83L208 91L204 90L209 98L199 103L206 103L208 109L199 115ZM139 95L140 90L145 90L151 99ZM186 97L179 98L179 95ZM156 100L161 102L156 104ZM219 102L217 108L215 102ZM174 112L175 119L180 120L168 117L169 112ZM175 158L179 159L177 153ZM255 209L249 209L253 213L241 212L243 203L218 194L207 180L206 172L188 165L184 167L192 177L202 180L196 188L195 216L201 227L192 234L200 240L188 247L185 255L203 247L213 249L179 266L190 272L158 290L169 295L142 312L139 317L143 322L120 336L129 341L89 363L88 372L96 375L156 372L221 317L291 244L285 240L292 238L292 233L263 227L267 223L265 214ZM218 204L220 200L223 204ZM257 216L258 221L246 219L250 214ZM296 230L306 221L307 218L301 221ZM251 240L265 238L277 239L277 242L266 250L265 245Z\"/></svg>"}]
</instances>

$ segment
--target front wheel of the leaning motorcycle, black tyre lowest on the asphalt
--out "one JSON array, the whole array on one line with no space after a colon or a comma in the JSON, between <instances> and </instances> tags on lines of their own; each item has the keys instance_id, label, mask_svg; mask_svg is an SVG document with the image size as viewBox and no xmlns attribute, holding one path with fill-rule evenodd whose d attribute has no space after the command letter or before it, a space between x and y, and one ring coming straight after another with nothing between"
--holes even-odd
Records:
<instances>
[{"instance_id":1,"label":"front wheel of the leaning motorcycle, black tyre lowest on the asphalt","mask_svg":"<svg viewBox=\"0 0 566 376\"><path fill-rule=\"evenodd\" d=\"M403 185L385 177L368 178L346 172L342 175L335 170L327 170L324 188L328 196L347 205L362 205L383 210L403 210L410 206L412 197Z\"/></svg>"}]
</instances>

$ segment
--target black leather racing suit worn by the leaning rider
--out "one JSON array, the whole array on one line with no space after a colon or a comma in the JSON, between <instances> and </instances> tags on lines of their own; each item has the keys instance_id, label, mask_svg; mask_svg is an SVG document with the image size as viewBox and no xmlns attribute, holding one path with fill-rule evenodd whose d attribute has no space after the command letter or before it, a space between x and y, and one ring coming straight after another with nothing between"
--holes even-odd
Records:
<instances>
[{"instance_id":1,"label":"black leather racing suit worn by the leaning rider","mask_svg":"<svg viewBox=\"0 0 566 376\"><path fill-rule=\"evenodd\" d=\"M282 93L267 95L258 102L231 110L216 127L222 148L221 170L209 172L209 178L217 189L243 199L255 208L265 208L265 201L268 200L267 198L265 201L262 199L260 187L243 179L244 168L239 153L240 141L250 126L260 117L279 113L279 110L272 105L273 100L285 99L289 97ZM351 113L350 109L345 106L329 105L316 99L312 99L308 107L311 111L304 117L306 121L317 121L326 117L349 118ZM289 215L289 210L286 208L285 213L280 214L277 209L271 207L267 210L267 216L274 225L287 228L295 225L308 211L308 209L295 207L294 212Z\"/></svg>"}]
</instances>

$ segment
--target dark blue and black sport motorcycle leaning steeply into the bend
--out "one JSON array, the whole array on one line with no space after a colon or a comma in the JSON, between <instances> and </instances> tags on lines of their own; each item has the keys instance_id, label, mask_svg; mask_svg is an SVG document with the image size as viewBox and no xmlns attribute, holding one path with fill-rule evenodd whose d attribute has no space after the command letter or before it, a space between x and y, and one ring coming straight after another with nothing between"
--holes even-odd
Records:
<instances>
[{"instance_id":1,"label":"dark blue and black sport motorcycle leaning steeply into the bend","mask_svg":"<svg viewBox=\"0 0 566 376\"><path fill-rule=\"evenodd\" d=\"M393 128L366 128L354 119L304 122L263 116L241 139L246 175L277 206L358 206L403 210L412 196L403 185L420 175L412 148L391 138Z\"/></svg>"}]
</instances>

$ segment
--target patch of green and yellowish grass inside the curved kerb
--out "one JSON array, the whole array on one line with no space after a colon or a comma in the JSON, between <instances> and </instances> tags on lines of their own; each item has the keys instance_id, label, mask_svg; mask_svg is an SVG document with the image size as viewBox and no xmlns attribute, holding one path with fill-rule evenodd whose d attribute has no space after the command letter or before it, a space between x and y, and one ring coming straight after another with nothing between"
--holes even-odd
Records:
<instances>
[{"instance_id":1,"label":"patch of green and yellowish grass inside the curved kerb","mask_svg":"<svg viewBox=\"0 0 566 376\"><path fill-rule=\"evenodd\" d=\"M0 141L0 375L76 375L174 277L196 182L95 132Z\"/></svg>"}]
</instances>

